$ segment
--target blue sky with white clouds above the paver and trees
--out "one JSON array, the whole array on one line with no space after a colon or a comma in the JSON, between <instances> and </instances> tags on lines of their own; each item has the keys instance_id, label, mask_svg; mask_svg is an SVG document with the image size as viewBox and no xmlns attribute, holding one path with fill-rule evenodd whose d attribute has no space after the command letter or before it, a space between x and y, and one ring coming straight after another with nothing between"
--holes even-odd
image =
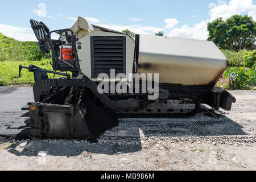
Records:
<instances>
[{"instance_id":1,"label":"blue sky with white clouds above the paver and trees","mask_svg":"<svg viewBox=\"0 0 256 182\"><path fill-rule=\"evenodd\" d=\"M249 14L256 20L253 0L97 0L97 1L3 1L0 7L0 32L18 40L35 40L29 20L43 21L50 30L71 27L77 16L106 28L137 34L201 39L207 38L207 23Z\"/></svg>"}]
</instances>

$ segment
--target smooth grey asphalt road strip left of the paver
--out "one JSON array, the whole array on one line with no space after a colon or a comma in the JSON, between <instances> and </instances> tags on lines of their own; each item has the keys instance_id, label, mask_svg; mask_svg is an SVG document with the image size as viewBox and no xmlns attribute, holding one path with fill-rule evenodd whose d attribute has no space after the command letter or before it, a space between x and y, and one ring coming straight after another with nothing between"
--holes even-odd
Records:
<instances>
[{"instance_id":1,"label":"smooth grey asphalt road strip left of the paver","mask_svg":"<svg viewBox=\"0 0 256 182\"><path fill-rule=\"evenodd\" d=\"M26 135L27 127L20 110L28 102L33 102L31 87L0 87L0 135Z\"/></svg>"}]
</instances>

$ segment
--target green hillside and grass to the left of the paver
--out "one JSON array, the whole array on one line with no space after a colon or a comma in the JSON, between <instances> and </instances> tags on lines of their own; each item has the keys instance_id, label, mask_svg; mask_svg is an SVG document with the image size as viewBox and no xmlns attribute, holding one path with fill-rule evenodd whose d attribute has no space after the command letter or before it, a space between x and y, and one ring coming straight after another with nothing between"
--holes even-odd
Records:
<instances>
[{"instance_id":1,"label":"green hillside and grass to the left of the paver","mask_svg":"<svg viewBox=\"0 0 256 182\"><path fill-rule=\"evenodd\" d=\"M40 60L40 61L39 61ZM36 42L19 42L0 33L0 86L34 84L34 74L27 69L19 75L19 65L26 67L34 64L40 68L52 70L51 60L46 59ZM52 78L52 74L48 74ZM60 76L55 76L60 77Z\"/></svg>"}]
</instances>

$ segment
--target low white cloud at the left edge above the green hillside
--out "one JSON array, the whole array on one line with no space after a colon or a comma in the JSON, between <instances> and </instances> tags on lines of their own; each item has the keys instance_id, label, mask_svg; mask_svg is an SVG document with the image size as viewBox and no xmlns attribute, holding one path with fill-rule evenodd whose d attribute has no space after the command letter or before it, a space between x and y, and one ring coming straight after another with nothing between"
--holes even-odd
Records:
<instances>
[{"instance_id":1,"label":"low white cloud at the left edge above the green hillside","mask_svg":"<svg viewBox=\"0 0 256 182\"><path fill-rule=\"evenodd\" d=\"M0 32L5 36L14 38L19 41L37 41L31 28L22 28L0 24Z\"/></svg>"}]
</instances>

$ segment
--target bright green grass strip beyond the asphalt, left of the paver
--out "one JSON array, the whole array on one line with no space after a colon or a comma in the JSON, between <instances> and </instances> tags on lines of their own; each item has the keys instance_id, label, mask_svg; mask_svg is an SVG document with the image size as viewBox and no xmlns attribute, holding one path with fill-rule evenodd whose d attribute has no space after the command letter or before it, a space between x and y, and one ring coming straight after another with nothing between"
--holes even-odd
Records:
<instances>
[{"instance_id":1,"label":"bright green grass strip beyond the asphalt, left of the paver","mask_svg":"<svg viewBox=\"0 0 256 182\"><path fill-rule=\"evenodd\" d=\"M0 86L11 85L30 85L34 84L34 73L28 72L27 69L22 69L21 78L14 78L19 76L19 65L22 64L28 67L33 64L37 67L52 70L51 60L44 59L41 61L0 61ZM49 78L53 78L53 74L48 73ZM55 78L61 76L56 75Z\"/></svg>"}]
</instances>

